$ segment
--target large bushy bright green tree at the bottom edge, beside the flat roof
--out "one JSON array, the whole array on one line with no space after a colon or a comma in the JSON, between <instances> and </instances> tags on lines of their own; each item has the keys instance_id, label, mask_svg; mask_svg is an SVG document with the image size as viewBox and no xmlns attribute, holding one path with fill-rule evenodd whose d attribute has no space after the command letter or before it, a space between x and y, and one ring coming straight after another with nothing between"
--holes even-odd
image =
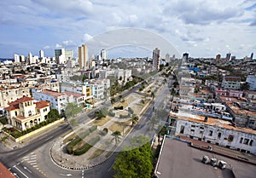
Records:
<instances>
[{"instance_id":1,"label":"large bushy bright green tree at the bottom edge, beside the flat roof","mask_svg":"<svg viewBox=\"0 0 256 178\"><path fill-rule=\"evenodd\" d=\"M139 136L139 140L141 137ZM135 138L135 140L137 140ZM151 172L153 170L153 152L149 144L149 139L142 146L136 147L126 147L129 151L119 152L118 157L115 159L113 164L113 169L116 171L116 174L113 175L114 178L150 178ZM145 140L143 139L143 140ZM133 148L133 149L131 149Z\"/></svg>"}]
</instances>

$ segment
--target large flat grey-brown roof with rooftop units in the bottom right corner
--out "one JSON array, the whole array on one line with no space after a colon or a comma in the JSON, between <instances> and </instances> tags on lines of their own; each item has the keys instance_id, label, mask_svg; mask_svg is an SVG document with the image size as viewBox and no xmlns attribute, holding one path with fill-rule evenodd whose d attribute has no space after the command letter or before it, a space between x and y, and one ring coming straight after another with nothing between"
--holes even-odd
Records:
<instances>
[{"instance_id":1,"label":"large flat grey-brown roof with rooftop units in the bottom right corner","mask_svg":"<svg viewBox=\"0 0 256 178\"><path fill-rule=\"evenodd\" d=\"M210 159L223 160L227 163L226 169L203 164L201 158L204 155ZM254 178L256 166L197 149L184 141L165 137L154 173L159 178Z\"/></svg>"}]
</instances>

